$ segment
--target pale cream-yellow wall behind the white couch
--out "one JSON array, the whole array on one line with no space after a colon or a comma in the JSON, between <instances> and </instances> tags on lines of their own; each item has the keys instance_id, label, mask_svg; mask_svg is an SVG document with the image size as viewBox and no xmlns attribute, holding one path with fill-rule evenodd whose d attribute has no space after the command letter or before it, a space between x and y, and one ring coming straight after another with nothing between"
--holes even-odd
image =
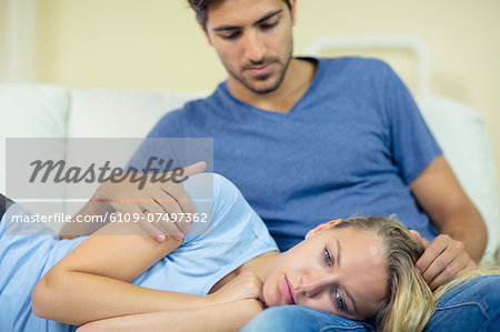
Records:
<instances>
[{"instance_id":1,"label":"pale cream-yellow wall behind the white couch","mask_svg":"<svg viewBox=\"0 0 500 332\"><path fill-rule=\"evenodd\" d=\"M6 1L0 0L0 14ZM32 53L40 81L191 91L213 89L226 78L183 0L10 1L38 3ZM4 27L0 29L1 36ZM484 114L500 167L500 1L298 0L294 29L298 54L326 33L421 39L432 57L434 93ZM413 88L411 59L393 56L389 59Z\"/></svg>"}]
</instances>

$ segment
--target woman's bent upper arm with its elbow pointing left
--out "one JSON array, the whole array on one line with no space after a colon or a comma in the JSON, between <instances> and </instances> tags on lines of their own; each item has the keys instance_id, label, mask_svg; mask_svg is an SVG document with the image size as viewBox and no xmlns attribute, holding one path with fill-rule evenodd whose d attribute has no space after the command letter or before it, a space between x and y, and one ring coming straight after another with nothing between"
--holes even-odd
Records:
<instances>
[{"instance_id":1,"label":"woman's bent upper arm with its elbow pointing left","mask_svg":"<svg viewBox=\"0 0 500 332\"><path fill-rule=\"evenodd\" d=\"M32 293L33 312L69 324L146 312L191 310L207 296L156 291L130 284L180 245L158 243L133 222L109 223L57 263Z\"/></svg>"}]
</instances>

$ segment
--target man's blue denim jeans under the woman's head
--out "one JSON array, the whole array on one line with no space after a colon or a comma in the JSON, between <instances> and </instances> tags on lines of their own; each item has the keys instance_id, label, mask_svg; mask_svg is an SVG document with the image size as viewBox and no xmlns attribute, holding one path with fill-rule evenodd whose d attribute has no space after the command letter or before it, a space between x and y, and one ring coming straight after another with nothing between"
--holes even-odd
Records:
<instances>
[{"instance_id":1,"label":"man's blue denim jeans under the woman's head","mask_svg":"<svg viewBox=\"0 0 500 332\"><path fill-rule=\"evenodd\" d=\"M264 310L243 332L374 331L363 323L300 305ZM438 302L426 331L500 331L500 275L484 275L453 289Z\"/></svg>"}]
</instances>

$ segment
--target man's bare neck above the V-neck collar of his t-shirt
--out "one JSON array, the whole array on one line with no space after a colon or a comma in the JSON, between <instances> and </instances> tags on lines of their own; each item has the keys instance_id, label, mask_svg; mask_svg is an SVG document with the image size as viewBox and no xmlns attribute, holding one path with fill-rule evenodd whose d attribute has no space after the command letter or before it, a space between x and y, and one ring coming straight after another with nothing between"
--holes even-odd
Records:
<instances>
[{"instance_id":1,"label":"man's bare neck above the V-neck collar of his t-shirt","mask_svg":"<svg viewBox=\"0 0 500 332\"><path fill-rule=\"evenodd\" d=\"M229 90L237 99L256 108L271 112L288 113L308 91L314 79L317 63L292 59L280 87L269 93L256 93L239 82L229 83ZM232 83L232 84L231 84Z\"/></svg>"}]
</instances>

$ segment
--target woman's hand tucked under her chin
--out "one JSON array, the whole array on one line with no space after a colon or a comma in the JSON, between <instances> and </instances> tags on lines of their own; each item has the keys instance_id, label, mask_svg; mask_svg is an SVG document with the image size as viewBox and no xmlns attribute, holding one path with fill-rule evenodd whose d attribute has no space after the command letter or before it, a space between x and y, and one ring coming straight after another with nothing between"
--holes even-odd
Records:
<instances>
[{"instance_id":1,"label":"woman's hand tucked under her chin","mask_svg":"<svg viewBox=\"0 0 500 332\"><path fill-rule=\"evenodd\" d=\"M208 294L207 298L213 304L250 299L266 303L262 295L262 281L252 272L239 274L220 290Z\"/></svg>"}]
</instances>

